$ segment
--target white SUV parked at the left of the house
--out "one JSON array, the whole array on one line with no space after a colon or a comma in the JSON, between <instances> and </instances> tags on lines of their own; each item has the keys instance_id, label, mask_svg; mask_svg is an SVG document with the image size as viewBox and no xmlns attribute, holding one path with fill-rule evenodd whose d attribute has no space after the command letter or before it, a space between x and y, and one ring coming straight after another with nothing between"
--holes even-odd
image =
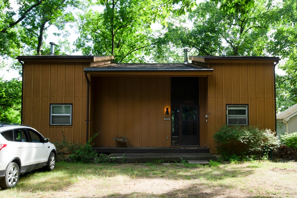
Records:
<instances>
[{"instance_id":1,"label":"white SUV parked at the left of the house","mask_svg":"<svg viewBox=\"0 0 297 198\"><path fill-rule=\"evenodd\" d=\"M56 147L27 125L0 123L0 188L17 185L20 174L55 167Z\"/></svg>"}]
</instances>

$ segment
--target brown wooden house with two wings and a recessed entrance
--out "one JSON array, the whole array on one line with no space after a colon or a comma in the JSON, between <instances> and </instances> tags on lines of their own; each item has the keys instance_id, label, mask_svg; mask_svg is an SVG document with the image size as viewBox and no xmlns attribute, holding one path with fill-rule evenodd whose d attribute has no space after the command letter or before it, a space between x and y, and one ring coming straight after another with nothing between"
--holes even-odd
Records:
<instances>
[{"instance_id":1,"label":"brown wooden house with two wings and a recessed entrance","mask_svg":"<svg viewBox=\"0 0 297 198\"><path fill-rule=\"evenodd\" d=\"M113 148L207 147L223 124L275 130L279 58L190 56L191 64L114 64L113 56L18 56L22 123L51 141ZM125 146L125 142L119 146Z\"/></svg>"}]
</instances>

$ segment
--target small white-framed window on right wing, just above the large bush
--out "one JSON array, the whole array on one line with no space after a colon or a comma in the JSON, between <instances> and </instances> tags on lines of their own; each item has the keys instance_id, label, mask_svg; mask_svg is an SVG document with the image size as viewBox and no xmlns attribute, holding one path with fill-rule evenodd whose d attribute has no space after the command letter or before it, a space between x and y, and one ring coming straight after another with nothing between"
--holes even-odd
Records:
<instances>
[{"instance_id":1,"label":"small white-framed window on right wing, just above the large bush","mask_svg":"<svg viewBox=\"0 0 297 198\"><path fill-rule=\"evenodd\" d=\"M227 105L227 125L248 125L247 105Z\"/></svg>"}]
</instances>

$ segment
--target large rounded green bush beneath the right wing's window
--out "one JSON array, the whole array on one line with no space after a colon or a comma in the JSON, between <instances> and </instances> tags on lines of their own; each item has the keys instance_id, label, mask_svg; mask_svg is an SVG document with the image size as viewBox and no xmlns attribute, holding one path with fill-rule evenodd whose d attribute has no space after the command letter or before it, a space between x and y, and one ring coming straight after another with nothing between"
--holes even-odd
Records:
<instances>
[{"instance_id":1,"label":"large rounded green bush beneath the right wing's window","mask_svg":"<svg viewBox=\"0 0 297 198\"><path fill-rule=\"evenodd\" d=\"M263 149L274 147L277 137L270 129L256 126L223 125L215 134L214 142L225 160L252 160L263 157Z\"/></svg>"}]
</instances>

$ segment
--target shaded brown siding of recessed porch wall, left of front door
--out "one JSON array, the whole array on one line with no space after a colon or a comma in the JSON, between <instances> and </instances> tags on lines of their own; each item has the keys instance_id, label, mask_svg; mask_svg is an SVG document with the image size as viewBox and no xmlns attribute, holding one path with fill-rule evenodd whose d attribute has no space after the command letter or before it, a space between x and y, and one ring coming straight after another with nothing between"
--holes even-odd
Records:
<instances>
[{"instance_id":1,"label":"shaded brown siding of recessed porch wall, left of front door","mask_svg":"<svg viewBox=\"0 0 297 198\"><path fill-rule=\"evenodd\" d=\"M170 112L170 77L91 77L91 131L100 132L94 146L113 147L116 135L134 147L170 146L166 107Z\"/></svg>"}]
</instances>

